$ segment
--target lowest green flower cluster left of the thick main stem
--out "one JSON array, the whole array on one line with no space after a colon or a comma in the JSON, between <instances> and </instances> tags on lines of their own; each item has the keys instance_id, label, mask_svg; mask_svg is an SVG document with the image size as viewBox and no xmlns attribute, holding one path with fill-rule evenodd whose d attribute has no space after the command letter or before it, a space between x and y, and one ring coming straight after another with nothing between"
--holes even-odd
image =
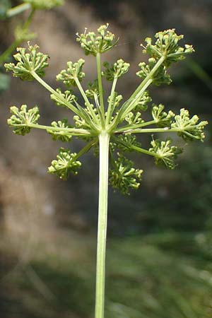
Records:
<instances>
[{"instance_id":1,"label":"lowest green flower cluster left of the thick main stem","mask_svg":"<svg viewBox=\"0 0 212 318\"><path fill-rule=\"evenodd\" d=\"M76 160L76 153L71 153L69 149L60 148L57 160L52 161L48 172L66 180L70 173L77 175L81 162Z\"/></svg>"}]
</instances>

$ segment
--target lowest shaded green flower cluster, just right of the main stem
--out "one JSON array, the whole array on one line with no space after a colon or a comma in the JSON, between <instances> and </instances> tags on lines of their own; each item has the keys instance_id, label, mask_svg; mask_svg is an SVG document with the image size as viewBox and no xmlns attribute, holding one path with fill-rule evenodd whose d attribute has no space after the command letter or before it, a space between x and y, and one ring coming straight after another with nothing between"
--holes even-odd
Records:
<instances>
[{"instance_id":1,"label":"lowest shaded green flower cluster, just right of the main stem","mask_svg":"<svg viewBox=\"0 0 212 318\"><path fill-rule=\"evenodd\" d=\"M117 154L118 159L113 162L110 169L109 182L114 189L122 194L129 194L129 189L138 189L143 170L135 169L134 163L122 154Z\"/></svg>"}]
</instances>

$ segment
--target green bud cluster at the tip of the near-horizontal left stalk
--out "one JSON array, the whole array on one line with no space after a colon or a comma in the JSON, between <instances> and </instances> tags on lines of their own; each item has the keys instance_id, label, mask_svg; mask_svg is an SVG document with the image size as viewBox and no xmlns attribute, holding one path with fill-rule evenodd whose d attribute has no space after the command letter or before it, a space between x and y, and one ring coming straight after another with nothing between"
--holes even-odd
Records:
<instances>
[{"instance_id":1,"label":"green bud cluster at the tip of the near-horizontal left stalk","mask_svg":"<svg viewBox=\"0 0 212 318\"><path fill-rule=\"evenodd\" d=\"M40 117L39 109L37 106L27 110L27 105L22 105L20 110L16 106L12 106L11 110L11 118L8 119L8 125L13 126L14 134L22 135L28 134L31 128L28 126L29 124L37 124L37 120ZM19 126L23 125L23 126Z\"/></svg>"}]
</instances>

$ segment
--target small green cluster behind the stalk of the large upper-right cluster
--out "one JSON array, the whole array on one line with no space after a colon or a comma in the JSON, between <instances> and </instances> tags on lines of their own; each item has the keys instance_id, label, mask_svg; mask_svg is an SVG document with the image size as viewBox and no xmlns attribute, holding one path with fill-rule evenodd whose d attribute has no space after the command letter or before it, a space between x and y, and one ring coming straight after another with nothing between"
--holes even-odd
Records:
<instances>
[{"instance_id":1,"label":"small green cluster behind the stalk of the large upper-right cluster","mask_svg":"<svg viewBox=\"0 0 212 318\"><path fill-rule=\"evenodd\" d=\"M145 62L139 63L139 67L141 68L141 71L138 71L136 75L143 79L146 78L156 63L157 63L157 60L154 57L151 57L151 59L148 59L148 64L146 64ZM167 73L164 65L160 65L158 67L157 71L155 71L155 73L152 76L152 80L153 80L153 84L155 84L156 86L160 86L161 84L169 85L170 83L172 83L172 80L169 74Z\"/></svg>"}]
</instances>

